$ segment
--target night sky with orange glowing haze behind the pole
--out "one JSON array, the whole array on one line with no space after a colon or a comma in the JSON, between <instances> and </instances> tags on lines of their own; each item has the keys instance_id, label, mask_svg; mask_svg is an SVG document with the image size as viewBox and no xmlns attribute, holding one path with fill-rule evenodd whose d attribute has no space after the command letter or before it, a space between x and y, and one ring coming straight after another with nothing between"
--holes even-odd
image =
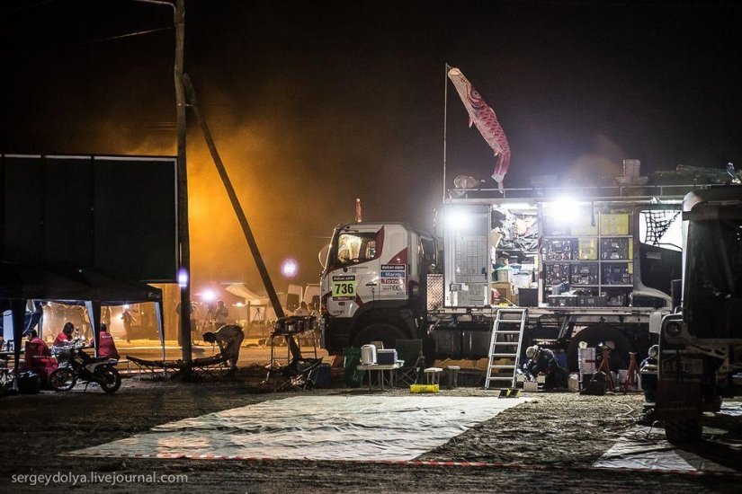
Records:
<instances>
[{"instance_id":1,"label":"night sky with orange glowing haze behind the pole","mask_svg":"<svg viewBox=\"0 0 742 494\"><path fill-rule=\"evenodd\" d=\"M4 1L0 152L176 154L172 26L157 4ZM317 281L317 251L355 198L364 220L432 227L445 110L449 183L495 187L446 64L496 110L513 156L506 187L598 183L624 158L643 174L742 168L736 2L188 0L185 32L185 72L279 291L285 256L300 282ZM193 287L259 291L188 117Z\"/></svg>"}]
</instances>

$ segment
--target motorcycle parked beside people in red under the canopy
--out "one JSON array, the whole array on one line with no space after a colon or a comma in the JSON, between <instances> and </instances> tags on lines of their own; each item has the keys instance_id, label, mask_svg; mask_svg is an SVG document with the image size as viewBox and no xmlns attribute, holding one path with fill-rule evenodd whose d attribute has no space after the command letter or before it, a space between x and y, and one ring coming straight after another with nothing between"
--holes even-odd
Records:
<instances>
[{"instance_id":1,"label":"motorcycle parked beside people in red under the canopy","mask_svg":"<svg viewBox=\"0 0 742 494\"><path fill-rule=\"evenodd\" d=\"M105 393L112 394L121 387L121 375L106 357L91 357L83 350L85 343L78 342L58 355L58 367L49 375L49 386L55 391L69 391L80 380L96 383Z\"/></svg>"}]
</instances>

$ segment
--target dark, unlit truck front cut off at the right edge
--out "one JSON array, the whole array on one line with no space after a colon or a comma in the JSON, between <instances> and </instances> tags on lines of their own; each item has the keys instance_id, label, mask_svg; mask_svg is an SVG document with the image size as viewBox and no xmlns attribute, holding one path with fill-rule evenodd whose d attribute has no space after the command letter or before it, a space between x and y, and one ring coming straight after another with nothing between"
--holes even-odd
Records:
<instances>
[{"instance_id":1,"label":"dark, unlit truck front cut off at the right edge","mask_svg":"<svg viewBox=\"0 0 742 494\"><path fill-rule=\"evenodd\" d=\"M680 311L662 322L657 419L667 439L701 437L700 417L739 394L742 372L742 188L699 190L683 202Z\"/></svg>"}]
</instances>

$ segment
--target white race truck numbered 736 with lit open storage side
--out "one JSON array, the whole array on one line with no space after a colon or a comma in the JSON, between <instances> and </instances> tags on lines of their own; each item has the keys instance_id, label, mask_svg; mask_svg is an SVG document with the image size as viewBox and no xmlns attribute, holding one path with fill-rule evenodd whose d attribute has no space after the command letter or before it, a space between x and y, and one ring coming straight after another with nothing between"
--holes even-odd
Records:
<instances>
[{"instance_id":1,"label":"white race truck numbered 736 with lit open storage side","mask_svg":"<svg viewBox=\"0 0 742 494\"><path fill-rule=\"evenodd\" d=\"M523 307L520 348L555 348L577 371L578 348L603 344L612 370L628 368L673 312L681 202L697 187L451 190L435 234L338 225L320 279L325 347L420 339L429 363L488 357L498 309Z\"/></svg>"}]
</instances>

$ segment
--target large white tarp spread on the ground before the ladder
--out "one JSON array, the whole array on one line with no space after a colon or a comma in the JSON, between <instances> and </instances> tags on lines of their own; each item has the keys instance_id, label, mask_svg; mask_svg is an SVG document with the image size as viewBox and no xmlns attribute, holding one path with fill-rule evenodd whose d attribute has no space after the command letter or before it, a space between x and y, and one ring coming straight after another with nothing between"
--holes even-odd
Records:
<instances>
[{"instance_id":1,"label":"large white tarp spread on the ground before the ladder","mask_svg":"<svg viewBox=\"0 0 742 494\"><path fill-rule=\"evenodd\" d=\"M297 396L179 420L70 454L408 461L525 400Z\"/></svg>"}]
</instances>

